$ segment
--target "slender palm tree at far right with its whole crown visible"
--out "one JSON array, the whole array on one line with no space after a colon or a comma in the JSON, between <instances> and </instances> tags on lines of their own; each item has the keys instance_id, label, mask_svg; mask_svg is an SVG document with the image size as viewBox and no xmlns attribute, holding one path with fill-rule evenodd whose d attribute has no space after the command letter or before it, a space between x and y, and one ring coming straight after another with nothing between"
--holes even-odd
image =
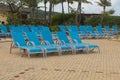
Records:
<instances>
[{"instance_id":1,"label":"slender palm tree at far right with its whole crown visible","mask_svg":"<svg viewBox=\"0 0 120 80\"><path fill-rule=\"evenodd\" d=\"M102 13L102 17L101 17L101 25L102 25L106 7L111 6L111 1L110 0L100 0L100 2L97 2L97 4L101 7L103 7L103 13Z\"/></svg>"}]
</instances>

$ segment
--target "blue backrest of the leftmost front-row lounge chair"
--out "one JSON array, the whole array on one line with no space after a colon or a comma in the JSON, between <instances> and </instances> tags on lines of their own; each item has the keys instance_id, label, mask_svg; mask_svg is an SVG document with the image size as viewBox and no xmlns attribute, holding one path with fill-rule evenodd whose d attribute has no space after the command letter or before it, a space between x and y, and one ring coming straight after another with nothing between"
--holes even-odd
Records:
<instances>
[{"instance_id":1,"label":"blue backrest of the leftmost front-row lounge chair","mask_svg":"<svg viewBox=\"0 0 120 80\"><path fill-rule=\"evenodd\" d=\"M15 46L27 46L24 36L20 32L11 32ZM17 44L16 44L17 43ZM18 45L19 44L19 45Z\"/></svg>"}]
</instances>

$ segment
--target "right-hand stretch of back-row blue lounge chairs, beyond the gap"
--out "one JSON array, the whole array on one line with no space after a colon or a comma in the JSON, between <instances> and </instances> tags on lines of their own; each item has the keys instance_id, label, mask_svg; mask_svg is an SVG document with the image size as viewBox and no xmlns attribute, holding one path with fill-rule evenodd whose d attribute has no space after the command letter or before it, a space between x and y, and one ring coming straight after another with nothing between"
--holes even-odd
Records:
<instances>
[{"instance_id":1,"label":"right-hand stretch of back-row blue lounge chairs, beyond the gap","mask_svg":"<svg viewBox=\"0 0 120 80\"><path fill-rule=\"evenodd\" d=\"M67 31L72 31L72 32L77 32L80 37L96 37L96 38L101 38L101 37L111 37L115 34L119 33L119 29L117 26L112 26L112 30L110 30L109 26L105 26L102 28L101 26L96 26L95 29L92 26L67 26L65 27L64 25L60 26L60 30L63 32Z\"/></svg>"}]
</instances>

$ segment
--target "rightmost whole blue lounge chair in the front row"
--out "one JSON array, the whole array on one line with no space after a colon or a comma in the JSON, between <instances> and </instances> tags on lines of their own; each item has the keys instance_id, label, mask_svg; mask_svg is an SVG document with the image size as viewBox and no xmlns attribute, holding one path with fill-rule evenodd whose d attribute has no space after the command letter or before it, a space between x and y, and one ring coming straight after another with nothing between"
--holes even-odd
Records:
<instances>
[{"instance_id":1,"label":"rightmost whole blue lounge chair in the front row","mask_svg":"<svg viewBox=\"0 0 120 80\"><path fill-rule=\"evenodd\" d=\"M79 35L76 32L70 32L70 37L72 39L72 41L76 44L82 44L82 45L86 45L88 47L88 51L89 50L93 50L93 49L98 49L99 53L100 53L100 49L99 46L96 44L90 44L90 43L83 43L79 37Z\"/></svg>"}]
</instances>

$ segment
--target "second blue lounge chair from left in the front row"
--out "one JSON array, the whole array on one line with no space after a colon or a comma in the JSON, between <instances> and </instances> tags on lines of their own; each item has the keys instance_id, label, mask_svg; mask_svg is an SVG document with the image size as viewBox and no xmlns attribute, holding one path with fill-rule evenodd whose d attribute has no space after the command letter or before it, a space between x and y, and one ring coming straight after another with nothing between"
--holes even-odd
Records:
<instances>
[{"instance_id":1,"label":"second blue lounge chair from left in the front row","mask_svg":"<svg viewBox=\"0 0 120 80\"><path fill-rule=\"evenodd\" d=\"M28 32L27 37L28 37L28 41L33 46L45 49L45 52L44 52L45 56L47 56L47 53L51 53L51 52L58 52L58 54L60 55L61 52L59 52L60 51L59 48L54 47L54 46L46 46L44 44L41 44L41 42L39 41L39 37L37 37L34 32Z\"/></svg>"}]
</instances>

